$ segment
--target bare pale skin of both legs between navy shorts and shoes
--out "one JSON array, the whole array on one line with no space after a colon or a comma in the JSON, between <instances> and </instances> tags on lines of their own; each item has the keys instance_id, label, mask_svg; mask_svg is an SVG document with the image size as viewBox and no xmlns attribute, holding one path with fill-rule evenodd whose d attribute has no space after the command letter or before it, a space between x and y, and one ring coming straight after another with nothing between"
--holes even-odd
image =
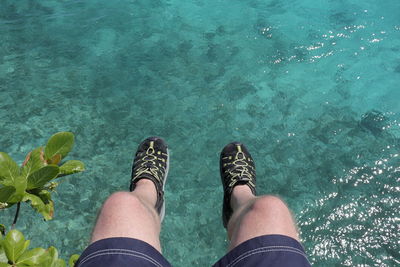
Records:
<instances>
[{"instance_id":1,"label":"bare pale skin of both legs between navy shorts and shoes","mask_svg":"<svg viewBox=\"0 0 400 267\"><path fill-rule=\"evenodd\" d=\"M157 193L148 179L137 182L133 192L117 192L104 203L91 243L110 237L131 237L147 242L161 252L161 220L154 206ZM280 234L299 240L290 210L278 197L255 197L248 186L234 187L231 206L233 215L227 233L229 250L253 237Z\"/></svg>"}]
</instances>

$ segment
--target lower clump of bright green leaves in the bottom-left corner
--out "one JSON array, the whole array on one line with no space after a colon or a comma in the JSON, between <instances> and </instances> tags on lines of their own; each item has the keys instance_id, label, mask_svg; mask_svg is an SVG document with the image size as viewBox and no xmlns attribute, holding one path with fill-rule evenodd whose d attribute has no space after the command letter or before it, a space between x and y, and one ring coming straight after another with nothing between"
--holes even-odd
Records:
<instances>
[{"instance_id":1,"label":"lower clump of bright green leaves in the bottom-left corner","mask_svg":"<svg viewBox=\"0 0 400 267\"><path fill-rule=\"evenodd\" d=\"M18 230L11 230L0 240L0 267L65 267L65 261L58 258L55 247L34 248L28 250L30 240ZM73 267L79 255L74 254L69 259L69 266Z\"/></svg>"}]
</instances>

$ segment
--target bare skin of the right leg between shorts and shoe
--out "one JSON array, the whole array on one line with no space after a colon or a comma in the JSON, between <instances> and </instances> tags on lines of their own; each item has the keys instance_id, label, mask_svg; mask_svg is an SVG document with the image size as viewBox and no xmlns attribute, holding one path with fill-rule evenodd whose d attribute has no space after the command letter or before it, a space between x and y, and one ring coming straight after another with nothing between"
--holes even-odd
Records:
<instances>
[{"instance_id":1,"label":"bare skin of the right leg between shorts and shoe","mask_svg":"<svg viewBox=\"0 0 400 267\"><path fill-rule=\"evenodd\" d=\"M228 223L229 249L251 238L280 234L299 240L296 226L286 204L275 196L255 197L246 185L233 188L233 214Z\"/></svg>"}]
</instances>

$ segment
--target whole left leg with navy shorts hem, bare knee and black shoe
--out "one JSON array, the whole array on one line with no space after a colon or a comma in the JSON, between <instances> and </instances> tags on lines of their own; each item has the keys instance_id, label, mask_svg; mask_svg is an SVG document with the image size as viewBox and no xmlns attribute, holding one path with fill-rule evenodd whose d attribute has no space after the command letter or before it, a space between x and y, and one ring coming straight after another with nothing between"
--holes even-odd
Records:
<instances>
[{"instance_id":1,"label":"whole left leg with navy shorts hem, bare knee and black shoe","mask_svg":"<svg viewBox=\"0 0 400 267\"><path fill-rule=\"evenodd\" d=\"M105 201L91 244L76 266L170 266L159 240L168 165L167 145L161 138L150 137L139 145L131 192L114 193Z\"/></svg>"}]
</instances>

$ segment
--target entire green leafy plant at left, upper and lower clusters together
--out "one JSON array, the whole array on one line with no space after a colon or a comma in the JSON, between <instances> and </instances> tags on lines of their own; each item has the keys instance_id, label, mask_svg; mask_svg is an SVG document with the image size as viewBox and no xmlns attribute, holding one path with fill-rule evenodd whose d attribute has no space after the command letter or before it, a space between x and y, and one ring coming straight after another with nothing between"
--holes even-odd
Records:
<instances>
[{"instance_id":1,"label":"entire green leafy plant at left, upper and lower clusters together","mask_svg":"<svg viewBox=\"0 0 400 267\"><path fill-rule=\"evenodd\" d=\"M73 133L56 133L45 147L29 152L21 167L8 154L0 152L0 209L17 205L11 228L17 223L21 202L30 202L45 220L53 218L51 192L58 185L55 179L85 169L78 160L63 162L73 145ZM0 224L0 237L0 267L66 266L65 261L58 258L58 251L54 247L28 250L30 241L25 240L18 230L13 229L6 234L6 227ZM74 266L78 258L79 255L72 255L69 265Z\"/></svg>"}]
</instances>

